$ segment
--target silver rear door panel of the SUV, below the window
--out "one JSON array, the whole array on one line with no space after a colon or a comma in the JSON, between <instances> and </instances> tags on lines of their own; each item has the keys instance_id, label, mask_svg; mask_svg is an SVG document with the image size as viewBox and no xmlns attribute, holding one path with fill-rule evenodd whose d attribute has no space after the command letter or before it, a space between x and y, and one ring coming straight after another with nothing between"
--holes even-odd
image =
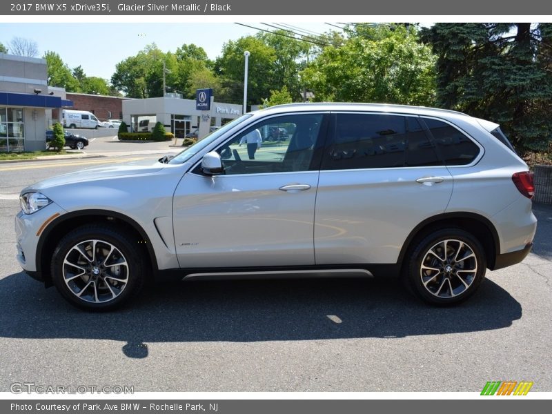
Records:
<instances>
[{"instance_id":1,"label":"silver rear door panel of the SUV, below the window","mask_svg":"<svg viewBox=\"0 0 552 414\"><path fill-rule=\"evenodd\" d=\"M440 177L439 183L418 183ZM315 210L316 264L393 264L421 221L444 213L453 189L444 168L322 171Z\"/></svg>"}]
</instances>

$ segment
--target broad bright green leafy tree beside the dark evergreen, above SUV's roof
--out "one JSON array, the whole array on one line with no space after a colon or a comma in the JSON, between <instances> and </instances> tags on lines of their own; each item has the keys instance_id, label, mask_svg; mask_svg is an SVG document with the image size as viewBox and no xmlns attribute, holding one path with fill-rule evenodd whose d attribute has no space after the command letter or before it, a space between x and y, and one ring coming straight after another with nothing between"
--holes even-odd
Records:
<instances>
[{"instance_id":1,"label":"broad bright green leafy tree beside the dark evergreen, above SUV's roof","mask_svg":"<svg viewBox=\"0 0 552 414\"><path fill-rule=\"evenodd\" d=\"M328 46L304 71L316 101L435 103L435 57L414 30L374 28ZM377 35L376 35L377 34Z\"/></svg>"}]
</instances>

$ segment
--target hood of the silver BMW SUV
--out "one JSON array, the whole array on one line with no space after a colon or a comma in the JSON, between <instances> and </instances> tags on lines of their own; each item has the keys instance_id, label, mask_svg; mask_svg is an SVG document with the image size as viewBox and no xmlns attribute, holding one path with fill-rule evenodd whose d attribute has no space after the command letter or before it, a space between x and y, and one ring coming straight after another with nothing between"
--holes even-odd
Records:
<instances>
[{"instance_id":1,"label":"hood of the silver BMW SUV","mask_svg":"<svg viewBox=\"0 0 552 414\"><path fill-rule=\"evenodd\" d=\"M166 167L159 161L151 159L132 161L125 164L112 164L107 166L99 166L92 168L84 168L67 174L51 177L43 181L39 181L32 186L28 186L21 191L21 194L28 190L43 190L55 186L63 186L65 184L78 183L83 181L95 181L98 179L106 179L113 177L127 177L131 175L146 175L158 172Z\"/></svg>"}]
</instances>

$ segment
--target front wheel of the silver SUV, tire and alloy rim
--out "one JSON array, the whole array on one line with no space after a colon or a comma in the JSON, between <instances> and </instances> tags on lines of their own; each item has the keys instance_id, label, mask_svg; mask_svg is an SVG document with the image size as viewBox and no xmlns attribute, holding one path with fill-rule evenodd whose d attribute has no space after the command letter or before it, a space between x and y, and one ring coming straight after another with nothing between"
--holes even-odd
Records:
<instances>
[{"instance_id":1,"label":"front wheel of the silver SUV, tire and alloy rim","mask_svg":"<svg viewBox=\"0 0 552 414\"><path fill-rule=\"evenodd\" d=\"M115 309L130 301L144 286L146 264L138 242L136 237L117 228L102 225L75 228L55 248L50 268L52 282L77 308Z\"/></svg>"}]
</instances>

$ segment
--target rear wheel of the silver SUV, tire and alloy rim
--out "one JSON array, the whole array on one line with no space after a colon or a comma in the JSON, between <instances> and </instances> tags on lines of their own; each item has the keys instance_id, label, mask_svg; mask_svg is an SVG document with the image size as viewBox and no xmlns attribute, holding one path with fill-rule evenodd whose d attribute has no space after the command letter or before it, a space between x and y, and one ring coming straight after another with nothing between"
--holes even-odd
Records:
<instances>
[{"instance_id":1,"label":"rear wheel of the silver SUV, tire and alloy rim","mask_svg":"<svg viewBox=\"0 0 552 414\"><path fill-rule=\"evenodd\" d=\"M403 276L409 290L437 306L468 299L485 277L483 246L460 228L435 230L415 240L406 260Z\"/></svg>"}]
</instances>

